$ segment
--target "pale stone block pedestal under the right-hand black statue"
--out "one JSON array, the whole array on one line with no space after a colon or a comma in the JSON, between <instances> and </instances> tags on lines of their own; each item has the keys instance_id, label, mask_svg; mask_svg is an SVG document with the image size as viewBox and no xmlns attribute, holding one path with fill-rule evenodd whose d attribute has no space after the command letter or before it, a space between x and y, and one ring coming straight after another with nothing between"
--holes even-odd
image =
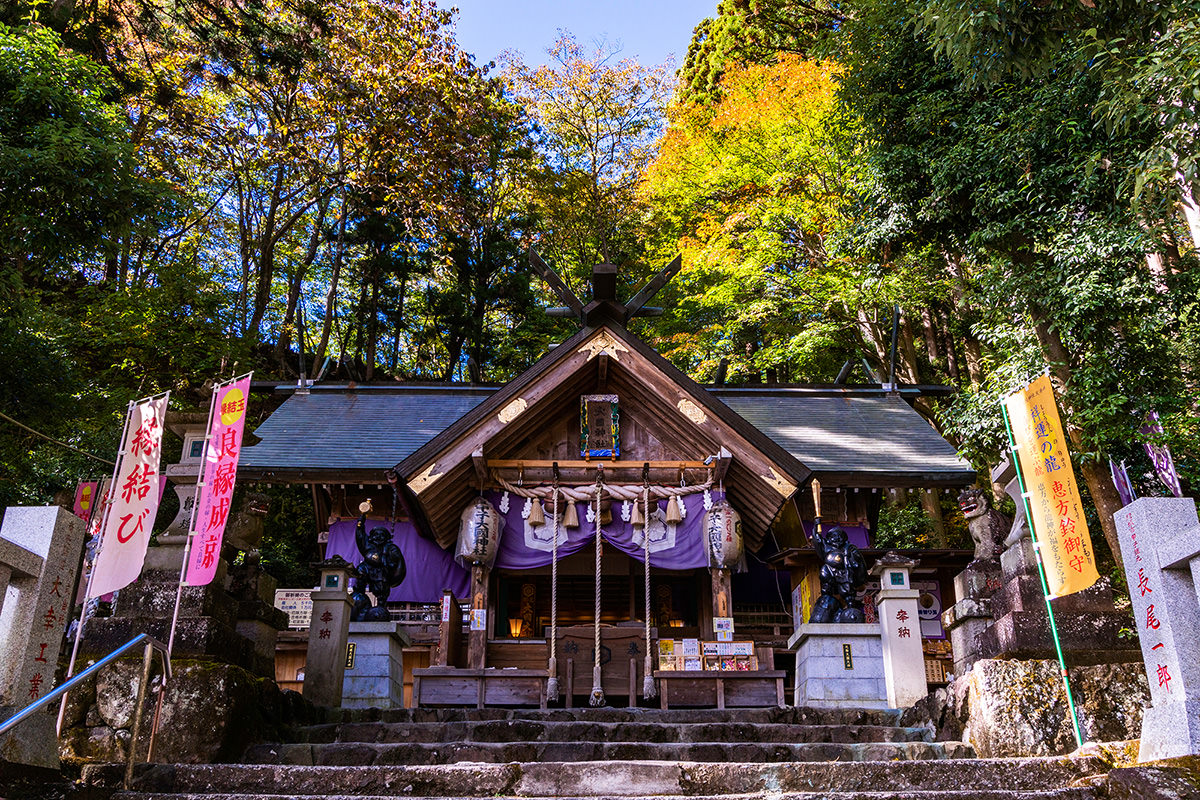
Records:
<instances>
[{"instance_id":1,"label":"pale stone block pedestal under the right-hand black statue","mask_svg":"<svg viewBox=\"0 0 1200 800\"><path fill-rule=\"evenodd\" d=\"M878 625L808 622L787 646L796 648L794 705L889 708Z\"/></svg>"}]
</instances>

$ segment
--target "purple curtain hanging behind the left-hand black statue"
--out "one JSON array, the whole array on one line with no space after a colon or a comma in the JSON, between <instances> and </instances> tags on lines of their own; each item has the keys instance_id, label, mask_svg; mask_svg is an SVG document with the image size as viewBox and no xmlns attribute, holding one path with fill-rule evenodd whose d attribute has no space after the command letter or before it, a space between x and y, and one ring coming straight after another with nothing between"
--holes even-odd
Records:
<instances>
[{"instance_id":1,"label":"purple curtain hanging behind the left-hand black statue","mask_svg":"<svg viewBox=\"0 0 1200 800\"><path fill-rule=\"evenodd\" d=\"M350 564L362 560L354 543L354 519L342 519L329 527L329 545L325 558L341 555ZM390 528L390 523L378 519L367 521L367 530L376 527ZM404 554L404 566L408 569L404 582L391 590L390 601L413 603L440 602L445 589L454 591L455 597L470 594L470 571L458 566L454 553L438 547L416 533L410 522L397 522L391 535L400 552Z\"/></svg>"}]
</instances>

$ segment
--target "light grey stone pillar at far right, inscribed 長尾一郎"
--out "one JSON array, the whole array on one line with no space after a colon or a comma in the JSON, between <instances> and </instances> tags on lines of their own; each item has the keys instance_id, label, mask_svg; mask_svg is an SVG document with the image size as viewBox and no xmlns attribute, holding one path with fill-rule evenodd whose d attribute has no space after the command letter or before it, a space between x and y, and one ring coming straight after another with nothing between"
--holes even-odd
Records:
<instances>
[{"instance_id":1,"label":"light grey stone pillar at far right, inscribed \u9577\u5c3e\u4e00\u90ce","mask_svg":"<svg viewBox=\"0 0 1200 800\"><path fill-rule=\"evenodd\" d=\"M1134 625L1150 680L1139 762L1200 753L1200 524L1190 498L1142 498L1116 513Z\"/></svg>"}]
</instances>

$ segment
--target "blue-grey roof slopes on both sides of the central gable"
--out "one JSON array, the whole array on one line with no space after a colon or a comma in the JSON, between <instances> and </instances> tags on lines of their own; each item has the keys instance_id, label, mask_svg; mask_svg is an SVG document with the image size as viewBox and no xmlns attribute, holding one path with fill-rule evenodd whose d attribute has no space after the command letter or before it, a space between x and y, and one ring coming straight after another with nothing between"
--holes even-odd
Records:
<instances>
[{"instance_id":1,"label":"blue-grey roof slopes on both sides of the central gable","mask_svg":"<svg viewBox=\"0 0 1200 800\"><path fill-rule=\"evenodd\" d=\"M240 467L306 474L384 470L494 391L322 387L294 395L254 431L262 441L242 451ZM712 393L816 473L959 473L966 482L973 479L954 447L895 396L787 389Z\"/></svg>"}]
</instances>

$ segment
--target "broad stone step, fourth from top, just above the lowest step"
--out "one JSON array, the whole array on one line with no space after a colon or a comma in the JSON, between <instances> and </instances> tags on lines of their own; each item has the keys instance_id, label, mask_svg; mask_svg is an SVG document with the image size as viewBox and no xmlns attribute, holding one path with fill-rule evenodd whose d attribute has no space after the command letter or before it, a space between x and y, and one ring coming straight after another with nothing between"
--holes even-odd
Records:
<instances>
[{"instance_id":1,"label":"broad stone step, fourth from top, just above the lowest step","mask_svg":"<svg viewBox=\"0 0 1200 800\"><path fill-rule=\"evenodd\" d=\"M1048 792L1072 788L1106 771L1096 757L803 762L787 764L577 762L446 764L427 766L288 766L144 764L133 788L146 794L275 794L294 798L408 795L420 798L713 796L769 793ZM116 788L122 766L89 765L85 788ZM1087 787L1080 787L1087 788ZM905 795L904 793L908 793ZM1070 796L1070 795L1068 795ZM1087 796L1087 795L1081 795Z\"/></svg>"}]
</instances>

